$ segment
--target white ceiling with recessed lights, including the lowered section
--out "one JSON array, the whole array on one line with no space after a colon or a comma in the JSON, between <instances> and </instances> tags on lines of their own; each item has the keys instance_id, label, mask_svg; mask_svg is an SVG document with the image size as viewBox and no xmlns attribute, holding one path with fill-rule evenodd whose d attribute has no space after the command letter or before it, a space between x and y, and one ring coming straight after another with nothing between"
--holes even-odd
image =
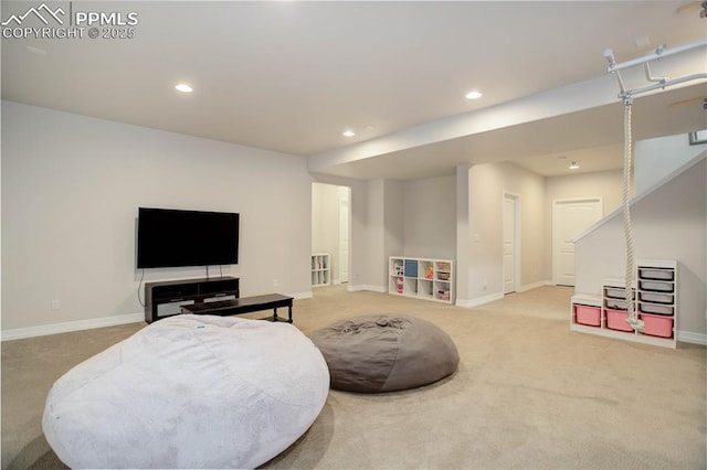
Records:
<instances>
[{"instance_id":1,"label":"white ceiling with recessed lights, including the lowered section","mask_svg":"<svg viewBox=\"0 0 707 470\"><path fill-rule=\"evenodd\" d=\"M38 3L3 0L2 20ZM707 31L694 1L61 4L135 11L135 38L3 38L3 99L314 158L601 77L608 47L622 62ZM175 92L179 82L194 93ZM464 99L475 88L484 97ZM637 100L636 137L707 127L704 96L698 84ZM564 171L560 156L580 171L620 168L622 113L587 107L318 171L408 179L513 160L549 175Z\"/></svg>"}]
</instances>

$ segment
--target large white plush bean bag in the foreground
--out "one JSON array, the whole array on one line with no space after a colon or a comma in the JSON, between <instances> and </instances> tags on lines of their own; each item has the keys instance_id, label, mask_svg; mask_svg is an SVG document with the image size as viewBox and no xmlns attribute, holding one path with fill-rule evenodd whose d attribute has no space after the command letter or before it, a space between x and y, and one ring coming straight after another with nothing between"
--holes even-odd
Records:
<instances>
[{"instance_id":1,"label":"large white plush bean bag in the foreground","mask_svg":"<svg viewBox=\"0 0 707 470\"><path fill-rule=\"evenodd\" d=\"M254 468L312 426L328 389L292 324L177 316L56 381L42 426L71 468Z\"/></svg>"}]
</instances>

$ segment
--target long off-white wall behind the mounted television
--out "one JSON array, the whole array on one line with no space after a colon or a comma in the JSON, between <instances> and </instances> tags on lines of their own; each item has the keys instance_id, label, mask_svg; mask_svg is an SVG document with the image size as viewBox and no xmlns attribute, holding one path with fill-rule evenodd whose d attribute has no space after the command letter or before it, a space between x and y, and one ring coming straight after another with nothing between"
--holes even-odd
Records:
<instances>
[{"instance_id":1,"label":"long off-white wall behind the mounted television","mask_svg":"<svg viewBox=\"0 0 707 470\"><path fill-rule=\"evenodd\" d=\"M312 181L299 157L2 102L2 330L141 314L138 206L239 212L223 274L244 296L306 296Z\"/></svg>"}]
</instances>

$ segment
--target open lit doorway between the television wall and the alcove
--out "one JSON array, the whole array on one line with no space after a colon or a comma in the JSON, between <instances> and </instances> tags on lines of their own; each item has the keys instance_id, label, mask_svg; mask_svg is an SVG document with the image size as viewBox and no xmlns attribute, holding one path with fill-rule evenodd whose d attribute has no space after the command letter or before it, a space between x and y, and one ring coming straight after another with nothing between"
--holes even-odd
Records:
<instances>
[{"instance_id":1,"label":"open lit doorway between the television wall and the alcove","mask_svg":"<svg viewBox=\"0 0 707 470\"><path fill-rule=\"evenodd\" d=\"M333 285L349 281L351 189L312 184L312 253L329 255Z\"/></svg>"}]
</instances>

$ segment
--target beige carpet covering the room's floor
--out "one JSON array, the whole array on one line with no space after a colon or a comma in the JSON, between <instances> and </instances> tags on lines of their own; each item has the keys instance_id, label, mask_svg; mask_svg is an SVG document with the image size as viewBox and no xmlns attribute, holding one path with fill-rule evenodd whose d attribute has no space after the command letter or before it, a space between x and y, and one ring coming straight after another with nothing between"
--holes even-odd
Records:
<instances>
[{"instance_id":1,"label":"beige carpet covering the room's floor","mask_svg":"<svg viewBox=\"0 0 707 470\"><path fill-rule=\"evenodd\" d=\"M331 391L309 431L264 468L705 469L705 348L570 332L571 293L542 287L462 309L317 288L295 301L305 333L356 314L413 314L450 333L460 370L413 391ZM2 343L2 468L62 467L41 431L52 383L139 328Z\"/></svg>"}]
</instances>

